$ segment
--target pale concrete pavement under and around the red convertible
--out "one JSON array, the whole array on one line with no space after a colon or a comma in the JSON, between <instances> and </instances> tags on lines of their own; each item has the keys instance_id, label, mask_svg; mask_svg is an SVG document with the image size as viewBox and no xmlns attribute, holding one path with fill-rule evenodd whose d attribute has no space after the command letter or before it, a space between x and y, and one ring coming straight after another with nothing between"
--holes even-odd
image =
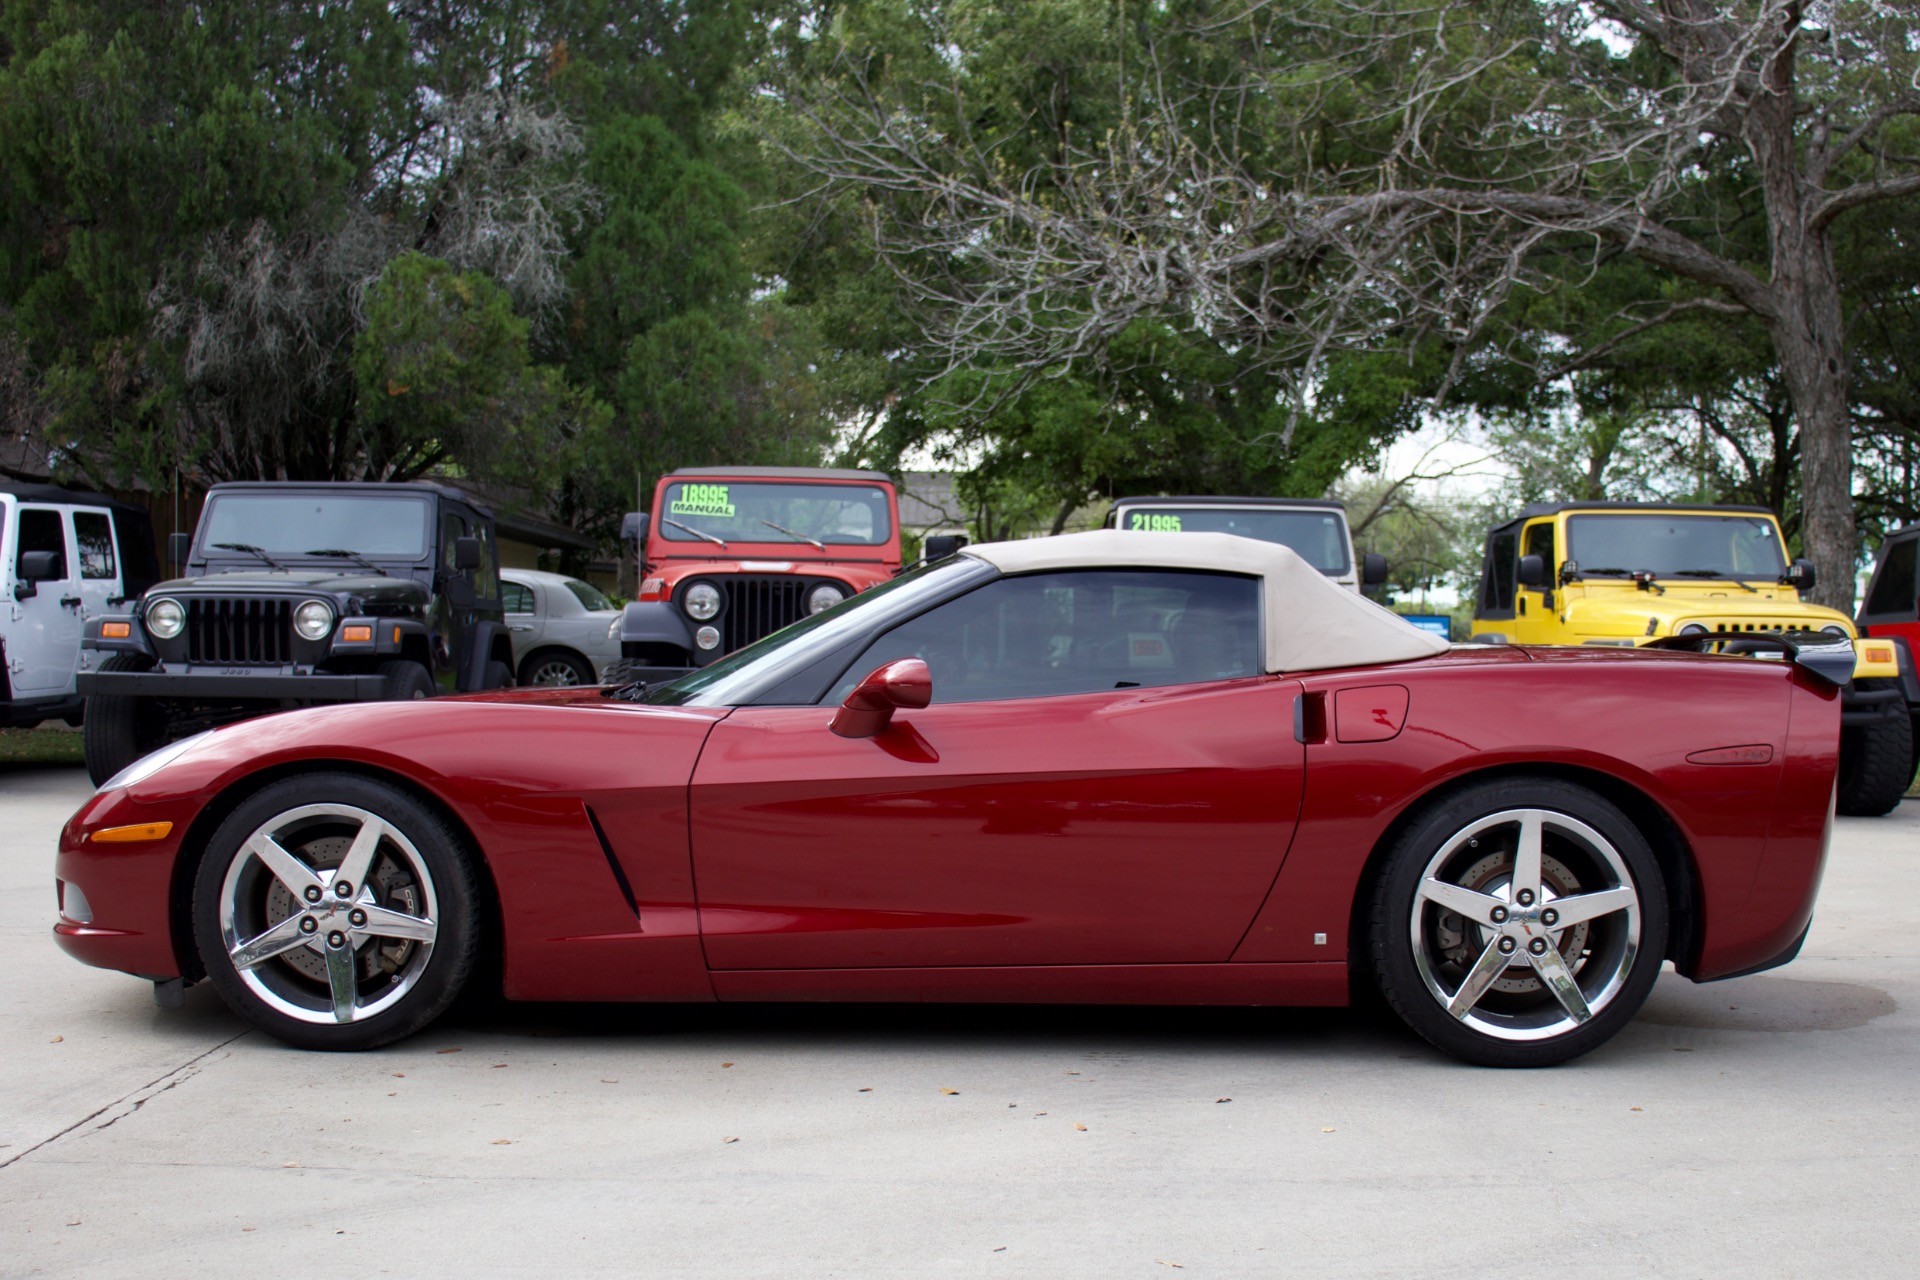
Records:
<instances>
[{"instance_id":1,"label":"pale concrete pavement under and around the red convertible","mask_svg":"<svg viewBox=\"0 0 1920 1280\"><path fill-rule=\"evenodd\" d=\"M0 1274L1828 1276L1920 1255L1920 802L1803 956L1551 1071L1369 1011L509 1007L300 1054L48 938L0 773ZM952 1090L952 1092L948 1092Z\"/></svg>"}]
</instances>

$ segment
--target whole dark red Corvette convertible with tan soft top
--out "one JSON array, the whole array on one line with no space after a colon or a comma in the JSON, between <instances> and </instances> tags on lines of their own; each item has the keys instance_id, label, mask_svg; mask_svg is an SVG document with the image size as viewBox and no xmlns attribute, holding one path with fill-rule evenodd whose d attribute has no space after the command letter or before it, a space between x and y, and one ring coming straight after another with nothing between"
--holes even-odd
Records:
<instances>
[{"instance_id":1,"label":"whole dark red Corvette convertible with tan soft top","mask_svg":"<svg viewBox=\"0 0 1920 1280\"><path fill-rule=\"evenodd\" d=\"M1799 950L1839 699L1786 656L1450 649L1219 533L995 543L672 683L165 747L61 833L54 933L317 1050L415 1032L480 973L645 1002L1373 981L1448 1054L1546 1065L1663 960Z\"/></svg>"}]
</instances>

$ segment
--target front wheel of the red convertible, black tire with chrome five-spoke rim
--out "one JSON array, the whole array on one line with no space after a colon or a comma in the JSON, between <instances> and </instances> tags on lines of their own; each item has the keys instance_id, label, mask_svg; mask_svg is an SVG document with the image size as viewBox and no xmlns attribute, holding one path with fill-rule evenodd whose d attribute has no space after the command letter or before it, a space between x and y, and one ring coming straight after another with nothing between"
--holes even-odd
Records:
<instances>
[{"instance_id":1,"label":"front wheel of the red convertible, black tire with chrome five-spoke rim","mask_svg":"<svg viewBox=\"0 0 1920 1280\"><path fill-rule=\"evenodd\" d=\"M359 883L342 881L374 823ZM480 898L461 839L422 802L371 777L303 773L261 789L213 833L192 923L234 1013L296 1048L371 1050L461 994Z\"/></svg>"}]
</instances>

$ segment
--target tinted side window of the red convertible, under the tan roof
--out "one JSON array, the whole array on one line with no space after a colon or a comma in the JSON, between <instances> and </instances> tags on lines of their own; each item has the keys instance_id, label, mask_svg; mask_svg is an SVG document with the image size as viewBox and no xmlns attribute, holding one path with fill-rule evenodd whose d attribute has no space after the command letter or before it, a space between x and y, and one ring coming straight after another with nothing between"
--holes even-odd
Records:
<instances>
[{"instance_id":1,"label":"tinted side window of the red convertible, under the tan roof","mask_svg":"<svg viewBox=\"0 0 1920 1280\"><path fill-rule=\"evenodd\" d=\"M1000 578L893 628L828 693L924 658L935 702L1041 699L1260 674L1260 581L1175 570Z\"/></svg>"}]
</instances>

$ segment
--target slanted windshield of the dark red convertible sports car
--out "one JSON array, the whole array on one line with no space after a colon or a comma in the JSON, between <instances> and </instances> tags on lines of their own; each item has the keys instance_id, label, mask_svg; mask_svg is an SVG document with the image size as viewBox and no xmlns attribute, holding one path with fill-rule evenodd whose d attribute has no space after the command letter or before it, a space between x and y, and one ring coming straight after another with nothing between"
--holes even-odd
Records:
<instances>
[{"instance_id":1,"label":"slanted windshield of the dark red convertible sports car","mask_svg":"<svg viewBox=\"0 0 1920 1280\"><path fill-rule=\"evenodd\" d=\"M645 700L674 706L743 706L843 649L849 651L843 660L851 660L851 651L866 645L877 631L996 572L985 560L968 555L924 564L826 612L801 618L691 676L647 689ZM837 668L822 672L820 683L826 685L837 674Z\"/></svg>"}]
</instances>

